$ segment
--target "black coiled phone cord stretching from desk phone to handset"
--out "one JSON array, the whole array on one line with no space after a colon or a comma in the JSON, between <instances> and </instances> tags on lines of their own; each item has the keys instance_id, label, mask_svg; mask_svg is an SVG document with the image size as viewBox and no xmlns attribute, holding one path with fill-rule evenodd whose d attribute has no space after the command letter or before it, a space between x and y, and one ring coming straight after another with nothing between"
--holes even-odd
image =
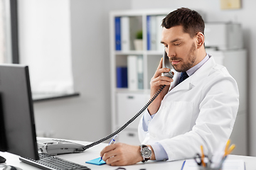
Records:
<instances>
[{"instance_id":1,"label":"black coiled phone cord stretching from desk phone to handset","mask_svg":"<svg viewBox=\"0 0 256 170\"><path fill-rule=\"evenodd\" d=\"M148 103L146 103L146 105L142 108L142 110L140 110L136 115L134 115L134 117L132 117L127 123L125 123L121 128L119 128L118 130L112 132L112 134L106 136L106 137L103 137L101 140L97 140L95 142L92 142L91 144L89 145L85 145L84 147L82 147L82 149L86 150L90 147L93 147L95 145L98 145L100 144L101 142L104 142L105 140L108 140L110 139L110 137L113 137L114 135L117 135L119 132L121 132L122 130L124 130L124 128L127 127L127 125L129 125L130 123L132 123L139 115L141 115L147 107L149 107L149 105L154 101L154 99L159 96L160 92L164 89L166 85L163 85L160 87L160 89L158 91L156 91L156 94L154 94L154 96L149 100Z\"/></svg>"}]
</instances>

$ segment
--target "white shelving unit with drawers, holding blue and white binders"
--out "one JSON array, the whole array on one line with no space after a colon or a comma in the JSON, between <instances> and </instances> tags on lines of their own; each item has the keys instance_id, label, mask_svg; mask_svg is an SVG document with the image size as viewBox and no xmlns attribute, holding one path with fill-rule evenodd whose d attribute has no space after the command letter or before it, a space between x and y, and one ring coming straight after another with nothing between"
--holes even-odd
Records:
<instances>
[{"instance_id":1,"label":"white shelving unit with drawers, holding blue and white binders","mask_svg":"<svg viewBox=\"0 0 256 170\"><path fill-rule=\"evenodd\" d=\"M161 10L127 10L110 12L110 69L111 69L111 101L112 101L112 131L120 128L149 101L150 79L161 60L163 49L147 50L147 16L166 16L173 9ZM129 50L116 50L115 47L115 18L129 17L133 22L133 30L129 29L130 41L134 40L135 32L142 30L143 50L134 50L130 44ZM161 23L157 23L161 27ZM122 47L121 47L122 48ZM142 56L143 60L143 89L131 90L129 88L117 88L117 67L127 67L127 56ZM120 132L118 141L132 145L139 145L137 137L137 125L141 116L134 120L123 132Z\"/></svg>"}]
</instances>

